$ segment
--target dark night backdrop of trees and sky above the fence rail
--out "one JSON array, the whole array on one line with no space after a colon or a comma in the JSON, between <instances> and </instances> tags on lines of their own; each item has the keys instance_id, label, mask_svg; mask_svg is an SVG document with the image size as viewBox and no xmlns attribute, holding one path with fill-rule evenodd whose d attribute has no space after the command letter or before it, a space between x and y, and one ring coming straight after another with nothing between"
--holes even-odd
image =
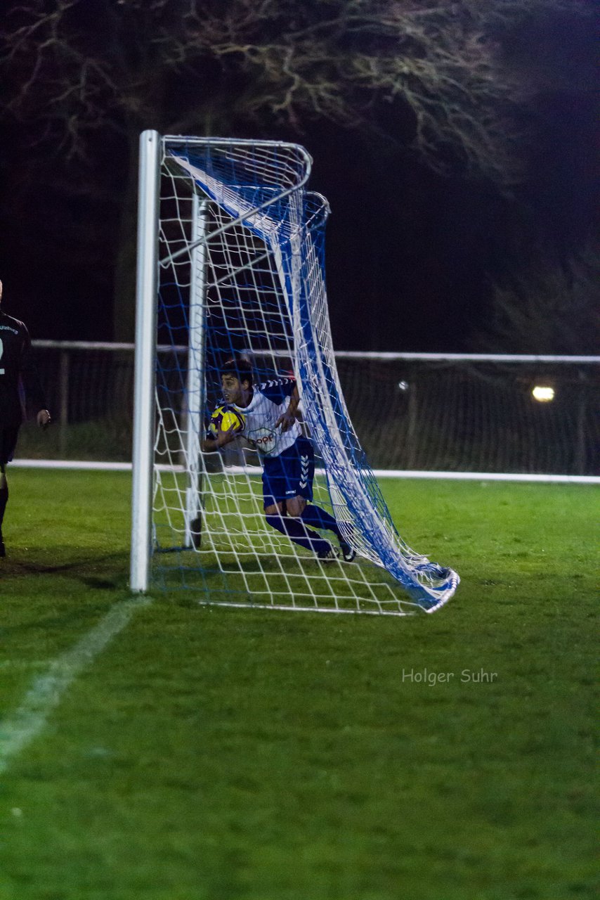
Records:
<instances>
[{"instance_id":1,"label":"dark night backdrop of trees and sky above the fence rail","mask_svg":"<svg viewBox=\"0 0 600 900\"><path fill-rule=\"evenodd\" d=\"M339 25L321 47L323 23L354 2L361 27ZM251 15L245 0L231 5ZM403 5L331 0L300 4L293 19L294 4L274 4L262 22L248 18L247 33L237 23L237 39L259 47L252 57L228 48L232 26L223 30L219 4L158 0L154 18L130 0L22 4L0 41L8 98L0 120L4 308L35 337L131 338L137 136L156 127L294 139L309 149L311 187L332 207L327 282L336 347L596 352L595 4L451 4L456 59L461 40L465 48L452 62L459 120L448 113L453 88L437 98L415 74L430 58L442 71L439 48L426 41L435 42L443 23L416 37L398 23L393 33L381 25L389 8ZM49 15L57 6L59 33ZM178 31L173 7L184 6L201 7L201 29ZM424 14L434 8L417 6ZM487 17L475 21L475 7ZM29 33L36 22L47 31ZM482 30L493 49L491 75L479 49L469 57ZM43 33L57 41L49 56L40 50ZM201 47L186 55L177 41L187 41L187 52L191 34ZM300 46L307 59L316 54L319 77L337 79L335 102L301 92L286 99L282 55ZM381 62L379 82L356 75L365 58ZM395 68L400 58L415 67L406 81ZM298 71L310 86L307 70ZM475 125L493 139L472 149L478 112Z\"/></svg>"}]
</instances>

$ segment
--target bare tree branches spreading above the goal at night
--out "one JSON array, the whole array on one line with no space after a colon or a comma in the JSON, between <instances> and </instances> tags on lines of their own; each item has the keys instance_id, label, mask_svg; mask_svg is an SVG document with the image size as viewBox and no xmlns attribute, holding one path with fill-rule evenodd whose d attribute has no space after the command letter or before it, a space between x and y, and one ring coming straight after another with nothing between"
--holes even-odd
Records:
<instances>
[{"instance_id":1,"label":"bare tree branches spreading above the goal at night","mask_svg":"<svg viewBox=\"0 0 600 900\"><path fill-rule=\"evenodd\" d=\"M131 269L139 130L230 134L311 120L410 138L430 166L518 178L532 85L503 63L527 17L583 0L21 0L0 32L6 110L40 147L129 147L121 279ZM387 112L387 114L386 114ZM407 128L406 122L410 122ZM391 123L391 127L390 127ZM67 187L66 187L67 189ZM76 189L71 184L70 189ZM118 290L122 293L122 289ZM131 318L120 317L125 332ZM120 335L123 337L123 334Z\"/></svg>"}]
</instances>

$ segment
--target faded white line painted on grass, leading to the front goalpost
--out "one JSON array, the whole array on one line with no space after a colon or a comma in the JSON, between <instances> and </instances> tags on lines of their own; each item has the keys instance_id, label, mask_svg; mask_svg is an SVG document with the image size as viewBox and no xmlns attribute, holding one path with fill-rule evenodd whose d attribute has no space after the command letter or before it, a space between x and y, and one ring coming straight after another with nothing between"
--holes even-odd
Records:
<instances>
[{"instance_id":1,"label":"faded white line painted on grass, leading to the front goalpost","mask_svg":"<svg viewBox=\"0 0 600 900\"><path fill-rule=\"evenodd\" d=\"M58 706L60 698L77 675L94 662L140 607L151 602L148 597L136 597L116 603L92 631L71 650L50 662L48 671L33 681L13 716L0 722L0 775L10 761L40 734L50 713Z\"/></svg>"}]
</instances>

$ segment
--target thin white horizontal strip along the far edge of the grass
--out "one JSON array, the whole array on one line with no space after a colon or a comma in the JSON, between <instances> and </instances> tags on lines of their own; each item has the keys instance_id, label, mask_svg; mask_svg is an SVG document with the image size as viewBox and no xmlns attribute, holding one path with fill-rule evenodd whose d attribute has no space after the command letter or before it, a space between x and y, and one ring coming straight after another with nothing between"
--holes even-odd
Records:
<instances>
[{"instance_id":1,"label":"thin white horizontal strip along the far edge of the grass","mask_svg":"<svg viewBox=\"0 0 600 900\"><path fill-rule=\"evenodd\" d=\"M98 472L130 472L130 463L94 463L88 460L15 459L12 466L23 469L90 469ZM159 472L184 472L183 465L158 464ZM223 469L228 475L260 475L258 466L231 465ZM324 474L316 469L317 475ZM556 484L600 484L600 475L529 474L511 472L425 472L422 469L373 469L375 478L432 478L465 482L546 482Z\"/></svg>"}]
</instances>

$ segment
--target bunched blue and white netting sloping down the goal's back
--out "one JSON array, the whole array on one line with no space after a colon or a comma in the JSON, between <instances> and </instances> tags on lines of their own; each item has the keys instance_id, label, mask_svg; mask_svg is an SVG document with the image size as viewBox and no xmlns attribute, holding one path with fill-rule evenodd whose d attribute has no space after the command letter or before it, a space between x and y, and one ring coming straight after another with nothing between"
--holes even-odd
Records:
<instances>
[{"instance_id":1,"label":"bunched blue and white netting sloping down the goal's back","mask_svg":"<svg viewBox=\"0 0 600 900\"><path fill-rule=\"evenodd\" d=\"M277 328L287 336L302 414L323 460L338 525L357 554L384 568L414 604L433 612L452 597L459 576L416 554L399 536L354 432L336 371L327 313L328 206L323 197L305 189L308 154L296 145L207 139L189 146L184 141L175 144L167 157L225 216L224 224L217 222L205 238L207 246L217 241L219 230L231 220L238 230L246 230L250 243L267 249L269 291L280 293L279 315L287 317ZM245 286L260 293L261 284L249 284L255 279L250 269ZM273 349L266 325L269 316L273 313L265 311L260 327L256 317L248 320L247 345L254 352ZM221 327L224 335L226 320ZM261 328L265 336L259 333Z\"/></svg>"}]
</instances>

